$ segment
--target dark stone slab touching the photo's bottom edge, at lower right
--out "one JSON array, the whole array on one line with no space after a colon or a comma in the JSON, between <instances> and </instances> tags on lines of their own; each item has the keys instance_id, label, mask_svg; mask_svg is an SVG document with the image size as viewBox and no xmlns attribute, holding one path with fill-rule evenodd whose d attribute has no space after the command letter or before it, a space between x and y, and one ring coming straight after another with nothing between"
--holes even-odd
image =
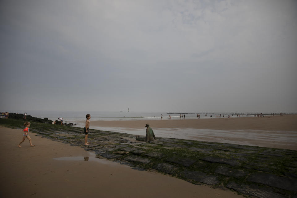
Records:
<instances>
[{"instance_id":1,"label":"dark stone slab touching the photo's bottom edge, at lower right","mask_svg":"<svg viewBox=\"0 0 297 198\"><path fill-rule=\"evenodd\" d=\"M234 182L227 184L227 188L231 188L244 195L256 196L259 198L284 198L285 196L273 192L271 188L259 187L257 185L239 185Z\"/></svg>"}]
</instances>

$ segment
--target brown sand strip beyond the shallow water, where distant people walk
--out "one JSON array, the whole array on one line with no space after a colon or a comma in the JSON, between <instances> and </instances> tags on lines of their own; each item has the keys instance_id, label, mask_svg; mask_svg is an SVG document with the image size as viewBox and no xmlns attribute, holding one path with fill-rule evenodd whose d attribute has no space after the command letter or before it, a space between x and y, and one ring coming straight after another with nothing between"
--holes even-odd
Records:
<instances>
[{"instance_id":1,"label":"brown sand strip beyond the shallow water, where distant people walk","mask_svg":"<svg viewBox=\"0 0 297 198\"><path fill-rule=\"evenodd\" d=\"M130 121L92 121L91 126L144 128L146 123L155 128L193 128L216 130L263 130L297 131L297 115L266 116L262 118L208 118L208 119L163 119ZM80 121L79 123L84 123Z\"/></svg>"}]
</instances>

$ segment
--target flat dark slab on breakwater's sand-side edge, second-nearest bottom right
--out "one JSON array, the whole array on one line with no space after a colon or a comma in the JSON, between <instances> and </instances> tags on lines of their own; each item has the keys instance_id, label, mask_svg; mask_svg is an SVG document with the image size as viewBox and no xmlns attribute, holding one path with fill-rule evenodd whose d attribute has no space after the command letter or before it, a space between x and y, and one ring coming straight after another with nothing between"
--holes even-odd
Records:
<instances>
[{"instance_id":1,"label":"flat dark slab on breakwater's sand-side edge, second-nearest bottom right","mask_svg":"<svg viewBox=\"0 0 297 198\"><path fill-rule=\"evenodd\" d=\"M180 176L194 180L195 182L206 183L208 185L215 185L219 183L217 176L208 175L200 171L183 171Z\"/></svg>"}]
</instances>

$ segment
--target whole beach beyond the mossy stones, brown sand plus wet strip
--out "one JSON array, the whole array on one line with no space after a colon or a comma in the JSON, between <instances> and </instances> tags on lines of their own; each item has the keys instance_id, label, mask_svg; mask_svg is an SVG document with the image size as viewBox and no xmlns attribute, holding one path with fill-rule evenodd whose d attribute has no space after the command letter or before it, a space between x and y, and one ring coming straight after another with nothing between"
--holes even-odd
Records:
<instances>
[{"instance_id":1,"label":"whole beach beyond the mossy stones, brown sand plus wet strip","mask_svg":"<svg viewBox=\"0 0 297 198\"><path fill-rule=\"evenodd\" d=\"M90 128L105 130L111 127L114 131L123 129L130 134L145 136L146 123L157 137L297 150L297 115L130 121L91 119ZM84 121L79 124L83 127Z\"/></svg>"}]
</instances>

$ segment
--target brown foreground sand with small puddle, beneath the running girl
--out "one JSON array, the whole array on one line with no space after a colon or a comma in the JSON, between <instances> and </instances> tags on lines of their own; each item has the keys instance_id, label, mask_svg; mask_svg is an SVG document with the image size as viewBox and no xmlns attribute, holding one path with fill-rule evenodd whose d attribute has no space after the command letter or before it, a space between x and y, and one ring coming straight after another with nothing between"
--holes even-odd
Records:
<instances>
[{"instance_id":1,"label":"brown foreground sand with small puddle, beneath the running girl","mask_svg":"<svg viewBox=\"0 0 297 198\"><path fill-rule=\"evenodd\" d=\"M34 128L34 125L31 126ZM0 197L243 197L231 191L194 185L160 173L133 170L79 147L0 126ZM72 160L56 160L54 158ZM72 158L71 158L72 157ZM84 161L84 157L90 157Z\"/></svg>"}]
</instances>

